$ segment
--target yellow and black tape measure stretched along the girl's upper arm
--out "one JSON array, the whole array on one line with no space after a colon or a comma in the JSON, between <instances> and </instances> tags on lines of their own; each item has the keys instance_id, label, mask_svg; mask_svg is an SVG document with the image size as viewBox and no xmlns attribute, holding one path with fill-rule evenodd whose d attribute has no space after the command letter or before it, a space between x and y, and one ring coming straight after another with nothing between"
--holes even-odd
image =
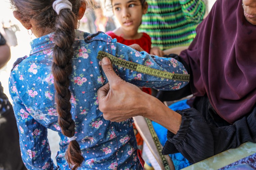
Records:
<instances>
[{"instance_id":1,"label":"yellow and black tape measure stretched along the girl's upper arm","mask_svg":"<svg viewBox=\"0 0 256 170\"><path fill-rule=\"evenodd\" d=\"M148 74L151 76L155 76L163 79L169 79L169 80L183 81L183 82L189 82L189 79L190 79L189 74L176 74L176 73L170 73L170 72L166 72L158 69L153 69L148 66L122 60L107 52L99 51L97 59L101 60L104 57L108 57L111 63L114 65L129 69L129 70L137 71L140 73Z\"/></svg>"}]
</instances>

